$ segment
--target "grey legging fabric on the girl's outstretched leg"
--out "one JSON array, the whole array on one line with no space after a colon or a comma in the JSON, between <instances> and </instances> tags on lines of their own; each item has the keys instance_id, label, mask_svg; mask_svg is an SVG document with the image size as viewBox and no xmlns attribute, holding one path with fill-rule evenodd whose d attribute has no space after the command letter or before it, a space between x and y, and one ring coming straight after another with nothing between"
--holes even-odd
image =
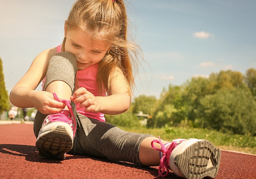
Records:
<instances>
[{"instance_id":1,"label":"grey legging fabric on the girl's outstretched leg","mask_svg":"<svg viewBox=\"0 0 256 179\"><path fill-rule=\"evenodd\" d=\"M116 126L88 118L80 113L77 115L75 144L69 154L109 158L142 166L138 153L140 144L152 135L125 132Z\"/></svg>"}]
</instances>

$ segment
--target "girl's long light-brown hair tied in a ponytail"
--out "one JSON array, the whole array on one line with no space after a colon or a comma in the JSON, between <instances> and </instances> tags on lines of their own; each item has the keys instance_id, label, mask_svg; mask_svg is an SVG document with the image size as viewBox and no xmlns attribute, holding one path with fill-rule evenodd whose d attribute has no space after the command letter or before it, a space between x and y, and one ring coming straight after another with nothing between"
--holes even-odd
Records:
<instances>
[{"instance_id":1,"label":"girl's long light-brown hair tied in a ponytail","mask_svg":"<svg viewBox=\"0 0 256 179\"><path fill-rule=\"evenodd\" d=\"M68 29L81 28L92 39L103 40L110 49L99 62L99 92L111 93L110 73L119 68L126 79L128 93L134 88L133 68L137 70L137 44L127 40L127 16L123 0L77 0L66 20ZM65 51L66 38L62 50ZM137 71L136 71L137 72Z\"/></svg>"}]
</instances>

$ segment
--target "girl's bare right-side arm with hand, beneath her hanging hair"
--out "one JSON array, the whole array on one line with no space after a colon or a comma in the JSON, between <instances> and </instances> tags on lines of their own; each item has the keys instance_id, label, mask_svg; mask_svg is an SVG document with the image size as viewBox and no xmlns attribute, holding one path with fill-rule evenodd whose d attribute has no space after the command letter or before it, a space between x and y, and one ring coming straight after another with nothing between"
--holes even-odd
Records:
<instances>
[{"instance_id":1,"label":"girl's bare right-side arm with hand, beneath her hanging hair","mask_svg":"<svg viewBox=\"0 0 256 179\"><path fill-rule=\"evenodd\" d=\"M71 100L80 107L85 107L89 112L102 112L104 114L121 114L130 107L131 97L123 73L116 69L110 75L109 96L93 96L85 88L81 87L74 92Z\"/></svg>"}]
</instances>

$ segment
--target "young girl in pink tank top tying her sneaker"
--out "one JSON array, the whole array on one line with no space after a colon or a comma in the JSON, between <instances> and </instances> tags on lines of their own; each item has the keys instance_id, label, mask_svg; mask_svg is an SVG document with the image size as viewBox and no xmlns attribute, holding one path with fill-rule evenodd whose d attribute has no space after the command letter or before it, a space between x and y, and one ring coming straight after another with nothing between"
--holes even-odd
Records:
<instances>
[{"instance_id":1,"label":"young girl in pink tank top tying her sneaker","mask_svg":"<svg viewBox=\"0 0 256 179\"><path fill-rule=\"evenodd\" d=\"M167 142L105 123L104 114L130 107L137 46L126 38L127 24L123 0L75 1L62 45L40 53L14 86L12 104L38 109L34 133L39 155L64 160L68 152L160 164L160 176L171 169L188 179L215 178L221 151L209 141ZM43 90L35 90L42 80Z\"/></svg>"}]
</instances>

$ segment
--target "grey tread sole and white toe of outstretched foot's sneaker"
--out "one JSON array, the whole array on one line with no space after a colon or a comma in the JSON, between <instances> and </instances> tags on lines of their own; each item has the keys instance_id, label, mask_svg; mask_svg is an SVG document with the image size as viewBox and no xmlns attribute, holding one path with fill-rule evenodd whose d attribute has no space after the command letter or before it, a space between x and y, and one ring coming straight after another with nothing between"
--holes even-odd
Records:
<instances>
[{"instance_id":1,"label":"grey tread sole and white toe of outstretched foot's sneaker","mask_svg":"<svg viewBox=\"0 0 256 179\"><path fill-rule=\"evenodd\" d=\"M217 176L220 167L220 149L212 145L211 142L201 139L187 140L181 144L175 148L180 154L173 156L171 154L171 157L174 157L174 164L179 170L177 171L177 168L173 167L176 168L173 170L176 175L186 179L215 178ZM180 152L184 146L188 147Z\"/></svg>"}]
</instances>

